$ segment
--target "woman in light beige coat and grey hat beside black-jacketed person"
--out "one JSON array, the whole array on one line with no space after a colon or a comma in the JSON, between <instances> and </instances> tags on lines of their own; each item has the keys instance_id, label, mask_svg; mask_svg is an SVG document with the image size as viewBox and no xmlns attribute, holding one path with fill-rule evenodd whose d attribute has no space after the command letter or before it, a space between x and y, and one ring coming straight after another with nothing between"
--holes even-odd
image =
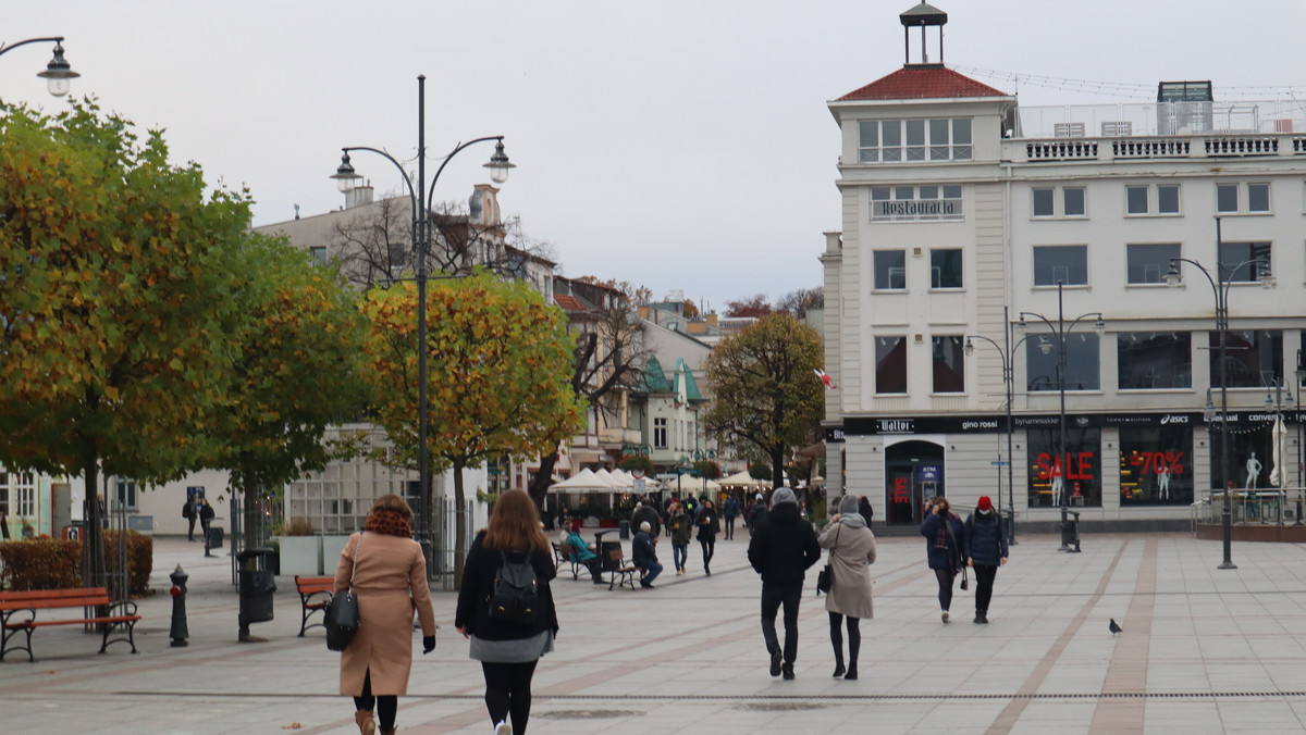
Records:
<instances>
[{"instance_id":1,"label":"woman in light beige coat and grey hat beside black-jacketed person","mask_svg":"<svg viewBox=\"0 0 1306 735\"><path fill-rule=\"evenodd\" d=\"M829 612L829 642L835 646L835 676L857 679L857 654L862 648L862 618L874 618L871 573L875 563L875 534L857 512L857 497L845 495L838 513L816 539L829 550L829 567L835 572L825 611ZM840 627L848 616L848 668L844 668L844 636Z\"/></svg>"}]
</instances>

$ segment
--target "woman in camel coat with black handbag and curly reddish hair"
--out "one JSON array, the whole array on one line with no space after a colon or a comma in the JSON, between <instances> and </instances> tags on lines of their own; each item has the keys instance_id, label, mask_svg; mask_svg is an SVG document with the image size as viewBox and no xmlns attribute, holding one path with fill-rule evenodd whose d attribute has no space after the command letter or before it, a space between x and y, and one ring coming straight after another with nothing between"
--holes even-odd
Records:
<instances>
[{"instance_id":1,"label":"woman in camel coat with black handbag and curly reddish hair","mask_svg":"<svg viewBox=\"0 0 1306 735\"><path fill-rule=\"evenodd\" d=\"M363 533L350 537L336 568L336 594L358 595L358 633L340 655L340 693L354 697L362 735L394 732L398 696L407 693L413 667L413 612L422 621L422 653L435 649L435 611L426 559L413 540L413 510L397 495L376 500Z\"/></svg>"}]
</instances>

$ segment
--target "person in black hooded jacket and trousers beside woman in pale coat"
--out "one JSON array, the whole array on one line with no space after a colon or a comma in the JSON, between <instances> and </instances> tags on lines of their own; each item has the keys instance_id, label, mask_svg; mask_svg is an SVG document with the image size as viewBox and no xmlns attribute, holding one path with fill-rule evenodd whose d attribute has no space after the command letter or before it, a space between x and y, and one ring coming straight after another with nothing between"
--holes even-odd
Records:
<instances>
[{"instance_id":1,"label":"person in black hooded jacket and trousers beside woman in pale coat","mask_svg":"<svg viewBox=\"0 0 1306 735\"><path fill-rule=\"evenodd\" d=\"M761 636L771 654L771 675L794 678L798 658L798 603L803 577L820 561L820 544L812 525L798 514L798 499L788 487L776 488L771 512L759 522L748 542L748 564L761 574ZM776 612L785 608L785 648L776 636Z\"/></svg>"}]
</instances>

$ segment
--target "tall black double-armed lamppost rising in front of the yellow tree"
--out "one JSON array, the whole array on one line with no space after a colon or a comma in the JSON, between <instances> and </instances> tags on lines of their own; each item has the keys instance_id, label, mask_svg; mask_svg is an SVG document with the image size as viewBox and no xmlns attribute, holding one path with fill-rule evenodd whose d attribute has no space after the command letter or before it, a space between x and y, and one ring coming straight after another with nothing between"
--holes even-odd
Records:
<instances>
[{"instance_id":1,"label":"tall black double-armed lamppost rising in front of the yellow tree","mask_svg":"<svg viewBox=\"0 0 1306 735\"><path fill-rule=\"evenodd\" d=\"M400 170L400 175L404 178L404 185L407 188L409 201L413 208L413 242L417 247L417 381L418 381L418 483L421 484L421 497L419 497L419 513L421 520L418 521L418 542L422 544L423 552L427 560L427 573L434 573L431 568L431 478L430 478L430 448L427 446L427 432L428 432L428 414L430 406L427 405L427 389L426 389L426 257L431 249L431 197L435 195L435 184L440 180L440 174L444 172L444 167L449 164L462 149L475 145L478 142L495 141L494 155L490 157L490 162L485 164L490 170L490 179L502 184L508 180L508 171L516 168L515 164L508 162L508 157L503 151L503 136L486 136L468 142L460 142L453 148L436 168L435 176L431 179L430 189L426 187L426 76L418 76L417 78L417 188L413 187L413 180L409 179L407 172L404 166L394 159L393 155L385 153L379 148L368 148L363 145L345 146L341 150L343 155L340 157L340 167L336 168L336 174L332 179L336 179L337 185L341 192L349 192L354 188L355 183L362 179L357 172L354 172L354 166L350 164L349 151L351 150L368 150L384 157L387 161L394 164ZM430 193L427 193L430 191ZM462 522L458 518L457 522Z\"/></svg>"}]
</instances>

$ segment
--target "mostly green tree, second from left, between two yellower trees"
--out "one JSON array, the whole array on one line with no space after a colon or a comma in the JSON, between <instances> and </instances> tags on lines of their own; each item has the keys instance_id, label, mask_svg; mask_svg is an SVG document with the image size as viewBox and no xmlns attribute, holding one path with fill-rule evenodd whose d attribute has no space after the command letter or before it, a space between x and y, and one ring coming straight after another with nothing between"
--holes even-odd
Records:
<instances>
[{"instance_id":1,"label":"mostly green tree, second from left, between two yellower trees","mask_svg":"<svg viewBox=\"0 0 1306 735\"><path fill-rule=\"evenodd\" d=\"M325 467L337 449L323 441L326 427L362 413L364 322L340 275L283 239L253 235L240 257L232 291L251 324L227 372L208 463L229 470L244 497L248 548L260 540L256 499Z\"/></svg>"}]
</instances>

